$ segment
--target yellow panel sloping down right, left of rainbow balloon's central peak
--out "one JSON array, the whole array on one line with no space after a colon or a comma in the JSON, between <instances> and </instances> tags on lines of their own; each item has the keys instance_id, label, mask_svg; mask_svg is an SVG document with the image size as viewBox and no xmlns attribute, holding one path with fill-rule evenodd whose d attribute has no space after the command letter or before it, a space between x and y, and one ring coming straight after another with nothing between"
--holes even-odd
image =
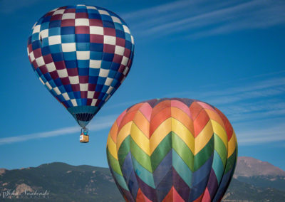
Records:
<instances>
[{"instance_id":1,"label":"yellow panel sloping down right, left of rainbow balloon's central peak","mask_svg":"<svg viewBox=\"0 0 285 202\"><path fill-rule=\"evenodd\" d=\"M145 153L150 156L150 140L142 133L134 122L130 129L130 137L133 138L142 151L145 151Z\"/></svg>"}]
</instances>

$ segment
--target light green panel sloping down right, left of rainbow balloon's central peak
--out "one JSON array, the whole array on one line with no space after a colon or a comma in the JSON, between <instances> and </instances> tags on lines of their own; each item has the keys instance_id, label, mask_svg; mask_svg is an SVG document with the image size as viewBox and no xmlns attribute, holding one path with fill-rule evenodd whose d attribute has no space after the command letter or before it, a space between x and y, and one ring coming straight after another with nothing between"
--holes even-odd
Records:
<instances>
[{"instance_id":1,"label":"light green panel sloping down right, left of rainbow balloon's central peak","mask_svg":"<svg viewBox=\"0 0 285 202\"><path fill-rule=\"evenodd\" d=\"M150 156L145 154L145 151L142 151L142 149L138 147L138 144L135 143L132 137L130 137L130 152L140 165L147 169L147 171L152 172Z\"/></svg>"}]
</instances>

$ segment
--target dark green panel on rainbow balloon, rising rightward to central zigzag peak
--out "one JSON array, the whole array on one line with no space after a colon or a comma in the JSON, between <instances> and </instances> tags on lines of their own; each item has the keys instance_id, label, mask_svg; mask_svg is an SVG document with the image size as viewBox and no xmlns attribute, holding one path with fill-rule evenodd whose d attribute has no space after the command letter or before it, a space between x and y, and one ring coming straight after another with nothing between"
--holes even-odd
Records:
<instances>
[{"instance_id":1,"label":"dark green panel on rainbow balloon, rising rightward to central zigzag peak","mask_svg":"<svg viewBox=\"0 0 285 202\"><path fill-rule=\"evenodd\" d=\"M170 132L164 139L162 139L160 144L158 144L155 151L152 152L152 155L150 156L152 171L155 171L160 162L165 158L166 154L168 154L170 149L172 149L171 142Z\"/></svg>"}]
</instances>

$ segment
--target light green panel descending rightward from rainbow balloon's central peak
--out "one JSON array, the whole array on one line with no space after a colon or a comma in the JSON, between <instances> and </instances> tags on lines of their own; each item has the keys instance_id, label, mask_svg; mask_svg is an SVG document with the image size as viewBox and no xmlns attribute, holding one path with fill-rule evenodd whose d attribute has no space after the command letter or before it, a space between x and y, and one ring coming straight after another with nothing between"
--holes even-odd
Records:
<instances>
[{"instance_id":1,"label":"light green panel descending rightward from rainbow balloon's central peak","mask_svg":"<svg viewBox=\"0 0 285 202\"><path fill-rule=\"evenodd\" d=\"M191 171L194 171L194 154L187 147L187 144L177 135L175 132L172 132L172 147L177 152L177 154L183 159L185 164L190 168Z\"/></svg>"}]
</instances>

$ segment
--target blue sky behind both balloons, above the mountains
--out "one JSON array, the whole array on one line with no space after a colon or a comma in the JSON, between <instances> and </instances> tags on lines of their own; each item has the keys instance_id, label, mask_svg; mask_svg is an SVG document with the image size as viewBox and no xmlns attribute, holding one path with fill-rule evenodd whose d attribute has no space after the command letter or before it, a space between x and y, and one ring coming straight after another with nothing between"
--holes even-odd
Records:
<instances>
[{"instance_id":1,"label":"blue sky behind both balloons, above the mountains","mask_svg":"<svg viewBox=\"0 0 285 202\"><path fill-rule=\"evenodd\" d=\"M125 19L135 38L128 78L90 122L90 143L39 82L26 54L33 23L59 6L89 4ZM222 110L239 156L285 169L284 1L0 2L0 168L53 161L108 166L115 118L156 97L188 97Z\"/></svg>"}]
</instances>

